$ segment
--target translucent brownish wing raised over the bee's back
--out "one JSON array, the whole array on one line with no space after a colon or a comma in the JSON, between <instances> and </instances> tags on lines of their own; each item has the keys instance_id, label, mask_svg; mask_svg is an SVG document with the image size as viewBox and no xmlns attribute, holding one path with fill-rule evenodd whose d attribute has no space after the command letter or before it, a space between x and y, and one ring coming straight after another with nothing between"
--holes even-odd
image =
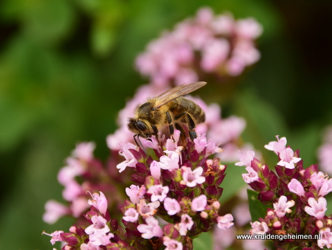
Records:
<instances>
[{"instance_id":1,"label":"translucent brownish wing raised over the bee's back","mask_svg":"<svg viewBox=\"0 0 332 250\"><path fill-rule=\"evenodd\" d=\"M180 96L191 93L192 91L203 87L205 84L206 82L192 82L190 84L181 84L172 89L169 89L156 97L156 105L154 106L154 109L158 109L159 107L165 105L167 102L170 102L171 100L174 100Z\"/></svg>"}]
</instances>

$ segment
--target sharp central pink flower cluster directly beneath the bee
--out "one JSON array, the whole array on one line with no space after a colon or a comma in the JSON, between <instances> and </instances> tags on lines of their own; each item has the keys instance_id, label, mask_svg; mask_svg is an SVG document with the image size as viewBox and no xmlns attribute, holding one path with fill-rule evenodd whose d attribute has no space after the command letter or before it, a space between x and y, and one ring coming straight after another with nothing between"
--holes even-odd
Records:
<instances>
[{"instance_id":1,"label":"sharp central pink flower cluster directly beneath the bee","mask_svg":"<svg viewBox=\"0 0 332 250\"><path fill-rule=\"evenodd\" d=\"M233 224L232 215L218 215L225 166L208 159L221 149L205 136L181 142L178 130L174 139L142 139L147 153L131 143L122 147L125 161L117 168L136 169L132 179L138 185L126 189L130 201L122 208L122 223L140 235L136 249L144 248L143 239L152 238L167 249L190 249L187 240L210 231L213 224L221 229Z\"/></svg>"}]
</instances>

